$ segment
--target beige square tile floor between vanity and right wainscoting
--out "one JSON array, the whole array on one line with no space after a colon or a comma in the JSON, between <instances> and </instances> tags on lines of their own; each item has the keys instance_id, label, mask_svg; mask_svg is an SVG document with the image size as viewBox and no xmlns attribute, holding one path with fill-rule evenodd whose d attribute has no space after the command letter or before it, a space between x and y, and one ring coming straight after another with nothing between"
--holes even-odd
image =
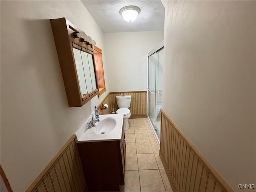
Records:
<instances>
[{"instance_id":1,"label":"beige square tile floor between vanity and right wainscoting","mask_svg":"<svg viewBox=\"0 0 256 192\"><path fill-rule=\"evenodd\" d=\"M129 119L125 185L121 192L172 192L148 119Z\"/></svg>"}]
</instances>

